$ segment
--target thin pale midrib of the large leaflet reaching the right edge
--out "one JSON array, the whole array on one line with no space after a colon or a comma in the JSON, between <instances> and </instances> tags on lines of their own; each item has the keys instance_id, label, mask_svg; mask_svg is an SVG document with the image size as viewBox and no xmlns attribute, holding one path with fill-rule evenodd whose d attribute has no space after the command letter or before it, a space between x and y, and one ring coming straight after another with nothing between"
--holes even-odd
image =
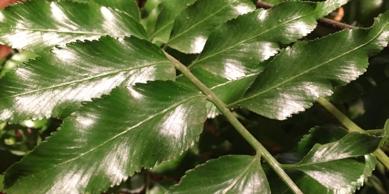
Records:
<instances>
[{"instance_id":1,"label":"thin pale midrib of the large leaflet reaching the right edge","mask_svg":"<svg viewBox=\"0 0 389 194\"><path fill-rule=\"evenodd\" d=\"M335 61L336 59L338 59L338 58L340 58L340 57L343 57L344 55L347 55L347 54L349 54L350 52L353 52L353 51L355 51L355 50L357 50L357 49L360 49L361 47L364 47L364 46L368 45L370 42L372 42L374 39L376 39L376 38L382 33L382 31L384 31L384 28L385 28L386 26L387 26L387 24L385 24L384 27L382 27L382 29L380 30L380 32L377 33L377 35L374 36L374 37L373 37L371 40L369 40L368 42L366 42L366 43L364 43L364 44L362 44L362 45L360 45L360 46L358 46L358 47L356 47L356 48L354 48L354 49L352 49L352 50L349 50L349 51L347 51L347 52L345 52L345 53L343 53L343 54L341 54L341 55L338 55L338 56L336 56L336 57L334 57L334 58L332 58L332 59L329 59L328 61L325 61L325 62L323 62L323 63L321 63L321 64L319 64L319 65L317 65L317 66L314 66L314 67L312 67L312 68L310 68L310 69L308 69L308 70L306 70L306 71L303 71L302 73L297 74L297 75L295 75L295 76L293 76L293 77L291 77L291 78L289 78L289 79L287 79L287 80L285 80L285 81L282 81L281 83L279 83L279 84L277 84L277 85L274 85L273 87L270 87L270 88L268 88L267 90L264 90L263 92L259 92L259 93L257 93L257 94L251 95L251 96L249 96L249 97L245 97L245 98L242 98L242 99L240 99L240 100L237 100L236 102L233 102L233 103L229 104L228 107L230 107L230 106L235 106L235 105L237 105L237 104L239 104L239 103L241 103L241 102L244 102L244 101L246 101L246 100L252 99L252 98L257 97L257 96L259 96L259 95L265 94L265 93L267 93L267 92L269 92L269 91L271 91L271 90L274 90L274 89L276 89L276 88L279 88L280 86L282 86L282 85L288 83L289 81L294 80L295 78L300 78L301 76L303 76L303 75L305 75L305 74L308 74L308 73L310 73L311 71L313 71L313 70L315 70L315 69L321 68L322 66L328 64L329 62Z\"/></svg>"}]
</instances>

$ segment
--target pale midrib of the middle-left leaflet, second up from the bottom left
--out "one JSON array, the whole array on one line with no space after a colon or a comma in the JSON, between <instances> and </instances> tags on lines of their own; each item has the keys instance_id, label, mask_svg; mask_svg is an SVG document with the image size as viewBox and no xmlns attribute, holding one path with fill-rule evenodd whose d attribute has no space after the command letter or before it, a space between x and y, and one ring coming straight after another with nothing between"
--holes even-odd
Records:
<instances>
[{"instance_id":1,"label":"pale midrib of the middle-left leaflet, second up from the bottom left","mask_svg":"<svg viewBox=\"0 0 389 194\"><path fill-rule=\"evenodd\" d=\"M24 93L21 93L21 94L15 94L15 95L7 96L7 97L4 97L4 98L0 98L0 100L8 99L8 98L13 98L13 97L18 97L18 96L22 96L22 95L28 95L28 94L32 94L32 93L35 93L35 92L40 92L40 91L43 91L43 90L49 90L49 89L53 89L53 88L58 88L58 87L62 87L62 86L66 86L66 85L70 85L70 84L74 84L74 83L80 83L80 82L84 82L84 81L88 81L88 80L93 80L95 78L109 76L109 75L117 74L117 73L120 73L120 72L123 72L123 71L132 71L134 69L147 68L147 67L150 67L150 66L154 66L154 65L158 65L158 64L163 64L163 63L169 63L169 61L155 62L155 63L150 63L150 64L146 64L146 65L143 65L143 66L135 67L135 68L122 69L120 71L115 71L115 72L112 72L112 73L99 74L97 76L89 77L89 78L86 78L86 79L83 79L83 80L71 81L71 82L67 82L67 83L62 83L62 84L54 85L54 86L51 86L51 87L41 88L39 90L33 90L33 91L30 91L30 92L24 92Z\"/></svg>"}]
</instances>

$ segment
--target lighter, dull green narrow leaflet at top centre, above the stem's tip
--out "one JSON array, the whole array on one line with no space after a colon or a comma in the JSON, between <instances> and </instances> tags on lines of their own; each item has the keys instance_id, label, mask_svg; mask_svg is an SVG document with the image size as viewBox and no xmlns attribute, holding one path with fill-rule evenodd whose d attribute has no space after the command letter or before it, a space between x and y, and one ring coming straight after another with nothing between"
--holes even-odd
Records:
<instances>
[{"instance_id":1,"label":"lighter, dull green narrow leaflet at top centre, above the stem's tip","mask_svg":"<svg viewBox=\"0 0 389 194\"><path fill-rule=\"evenodd\" d=\"M173 28L175 17L196 0L166 0L162 3L161 13L158 15L154 32L150 35L154 41L168 42Z\"/></svg>"}]
</instances>

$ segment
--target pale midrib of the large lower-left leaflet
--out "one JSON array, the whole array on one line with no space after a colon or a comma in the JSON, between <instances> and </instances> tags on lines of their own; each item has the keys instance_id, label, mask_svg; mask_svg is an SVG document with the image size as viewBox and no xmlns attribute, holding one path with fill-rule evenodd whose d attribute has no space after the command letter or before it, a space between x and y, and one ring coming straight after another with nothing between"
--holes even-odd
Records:
<instances>
[{"instance_id":1,"label":"pale midrib of the large lower-left leaflet","mask_svg":"<svg viewBox=\"0 0 389 194\"><path fill-rule=\"evenodd\" d=\"M147 121L152 120L152 119L155 118L156 116L159 116L159 115L161 115L161 114L165 114L166 112L170 111L171 109L173 109L173 108L175 108L175 107L178 107L178 106L181 105L181 104L184 104L184 103L189 102L189 101L191 101L191 100L193 100L193 99L195 99L195 98L200 98L200 97L204 97L204 95L194 95L194 96L189 97L189 98L187 98L187 99L185 99L185 100L182 100L182 101L180 101L180 102L177 102L177 103L173 104L172 106L169 106L169 107L167 107L166 109L160 111L159 113L153 114L153 115L149 116L148 118L146 118L145 120L138 122L136 125L133 125L133 126L131 126L130 128L127 128L127 129L124 130L123 132L118 133L118 134L115 135L114 137L111 137L110 139L108 139L108 140L102 142L101 144L99 144L99 145L93 147L92 149L90 149L90 150L88 150L88 151L86 151L86 152L84 152L84 153L81 153L79 156L77 156L77 157L75 157L75 158L68 159L67 161L64 161L64 162L62 162L62 163L59 163L58 165L54 165L53 167L51 167L51 168L49 168L49 169L42 170L42 171L40 171L40 172L37 172L37 173L33 173L33 174L30 174L30 175L27 175L27 176L25 176L25 177L23 177L23 178L20 178L20 179L17 179L17 180L18 180L18 181L21 181L21 180L23 180L23 179L25 179L25 178L28 178L28 177L30 177L30 176L37 175L37 174L40 174L40 173L44 173L44 172L53 170L54 168L57 168L58 166L66 165L67 163L70 163L70 162L75 161L75 160L77 160L77 159L79 159L79 158L82 158L82 156L85 156L86 154L89 154L90 152L95 151L95 150L98 149L99 147L102 147L103 145L107 144L108 142L110 142L110 141L116 139L117 137L120 137L121 135L124 135L125 133L129 132L130 130L132 130L132 129L134 129L134 128L137 128L138 126L140 126L140 125L146 123ZM60 128L58 129L58 131L59 131L59 130L60 130Z\"/></svg>"}]
</instances>

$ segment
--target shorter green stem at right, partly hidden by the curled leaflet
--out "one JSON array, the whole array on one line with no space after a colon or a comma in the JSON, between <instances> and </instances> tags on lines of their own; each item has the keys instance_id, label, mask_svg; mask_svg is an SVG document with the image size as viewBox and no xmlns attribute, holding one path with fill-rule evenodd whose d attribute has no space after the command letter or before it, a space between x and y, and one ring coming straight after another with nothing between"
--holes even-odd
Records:
<instances>
[{"instance_id":1,"label":"shorter green stem at right, partly hidden by the curled leaflet","mask_svg":"<svg viewBox=\"0 0 389 194\"><path fill-rule=\"evenodd\" d=\"M320 97L317 102L321 104L329 113L331 113L340 123L345 126L351 132L362 132L366 133L365 130L360 128L357 124L352 122L345 114L343 114L339 109L337 109L331 102L329 102L324 97ZM374 152L377 159L389 170L389 157L381 150L378 149Z\"/></svg>"}]
</instances>

